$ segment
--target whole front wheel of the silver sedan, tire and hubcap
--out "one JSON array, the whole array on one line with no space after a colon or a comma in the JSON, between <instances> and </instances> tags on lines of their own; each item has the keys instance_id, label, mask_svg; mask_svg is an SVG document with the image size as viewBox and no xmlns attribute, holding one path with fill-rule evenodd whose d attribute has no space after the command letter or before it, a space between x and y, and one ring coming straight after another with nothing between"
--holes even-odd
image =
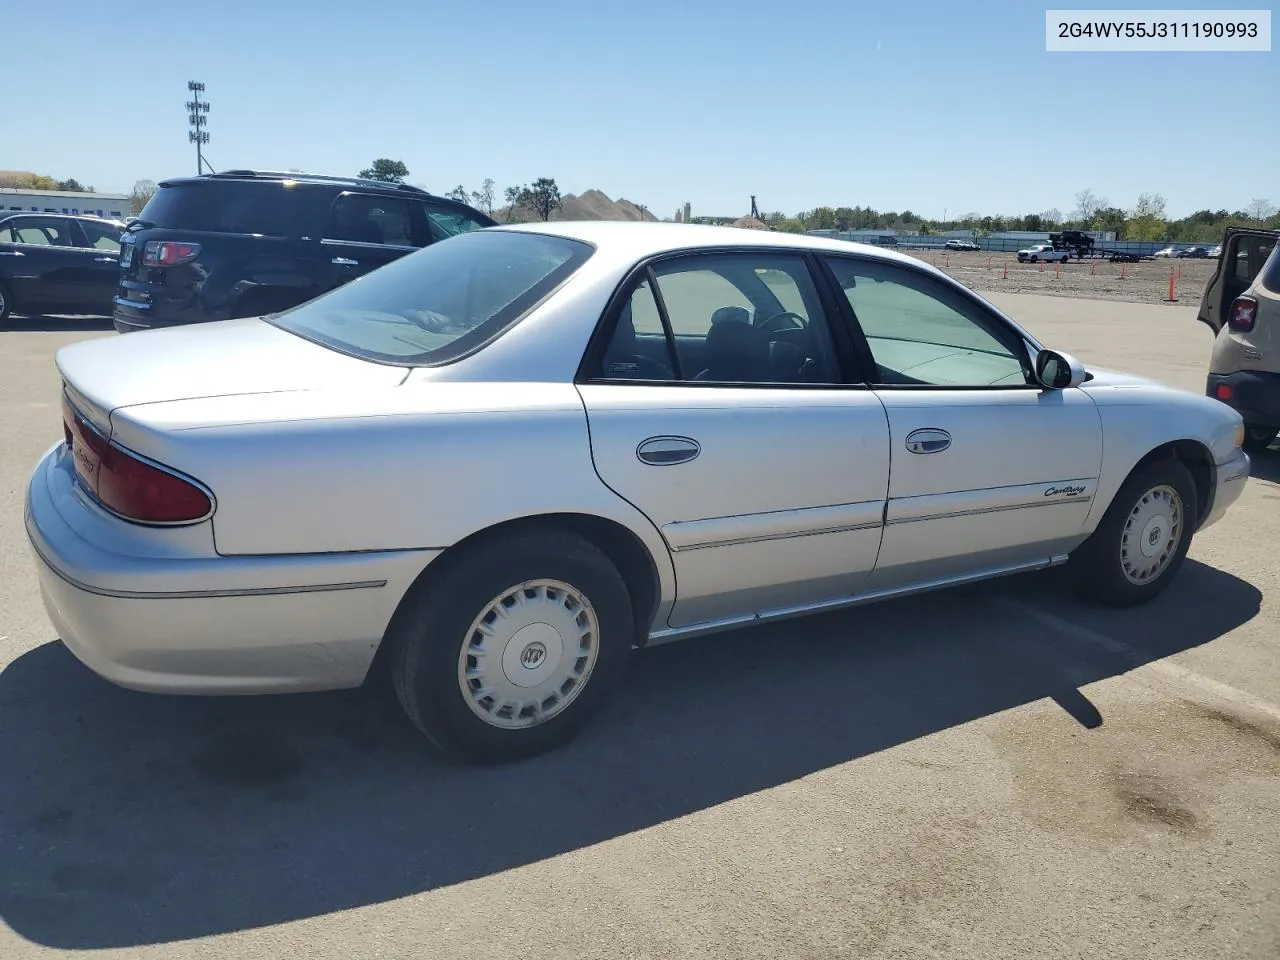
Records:
<instances>
[{"instance_id":1,"label":"whole front wheel of the silver sedan, tire and hubcap","mask_svg":"<svg viewBox=\"0 0 1280 960\"><path fill-rule=\"evenodd\" d=\"M1071 554L1076 585L1111 607L1155 599L1187 558L1198 509L1196 481L1180 461L1161 460L1134 471Z\"/></svg>"}]
</instances>

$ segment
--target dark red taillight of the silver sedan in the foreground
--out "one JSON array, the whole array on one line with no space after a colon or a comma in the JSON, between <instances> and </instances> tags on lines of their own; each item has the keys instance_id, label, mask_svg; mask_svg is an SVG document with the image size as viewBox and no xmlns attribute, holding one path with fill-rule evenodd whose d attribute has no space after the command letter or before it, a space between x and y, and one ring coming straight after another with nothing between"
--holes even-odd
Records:
<instances>
[{"instance_id":1,"label":"dark red taillight of the silver sedan in the foreground","mask_svg":"<svg viewBox=\"0 0 1280 960\"><path fill-rule=\"evenodd\" d=\"M63 398L63 433L81 484L106 508L142 524L187 524L207 517L209 494L163 467L108 442Z\"/></svg>"}]
</instances>

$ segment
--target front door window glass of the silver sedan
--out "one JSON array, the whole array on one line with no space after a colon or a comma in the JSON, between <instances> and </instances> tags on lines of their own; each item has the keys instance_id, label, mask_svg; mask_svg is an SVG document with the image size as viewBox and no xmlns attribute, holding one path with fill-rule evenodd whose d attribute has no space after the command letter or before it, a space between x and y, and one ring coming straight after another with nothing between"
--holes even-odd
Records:
<instances>
[{"instance_id":1,"label":"front door window glass of the silver sedan","mask_svg":"<svg viewBox=\"0 0 1280 960\"><path fill-rule=\"evenodd\" d=\"M893 264L828 262L867 337L878 385L1032 383L1020 339L956 291Z\"/></svg>"}]
</instances>

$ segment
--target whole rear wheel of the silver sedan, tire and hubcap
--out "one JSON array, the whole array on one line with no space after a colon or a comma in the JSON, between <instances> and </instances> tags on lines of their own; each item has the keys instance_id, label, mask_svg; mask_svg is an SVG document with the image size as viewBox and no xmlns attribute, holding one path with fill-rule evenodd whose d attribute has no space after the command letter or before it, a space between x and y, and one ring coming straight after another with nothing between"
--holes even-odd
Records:
<instances>
[{"instance_id":1,"label":"whole rear wheel of the silver sedan, tire and hubcap","mask_svg":"<svg viewBox=\"0 0 1280 960\"><path fill-rule=\"evenodd\" d=\"M621 680L634 634L609 558L544 529L457 557L406 598L387 643L419 730L461 760L502 763L576 736Z\"/></svg>"}]
</instances>

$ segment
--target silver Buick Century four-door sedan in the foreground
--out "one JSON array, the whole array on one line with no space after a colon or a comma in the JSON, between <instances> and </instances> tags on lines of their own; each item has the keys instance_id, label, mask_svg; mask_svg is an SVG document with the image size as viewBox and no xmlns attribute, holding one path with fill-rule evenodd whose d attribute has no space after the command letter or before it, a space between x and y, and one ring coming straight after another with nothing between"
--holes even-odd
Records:
<instances>
[{"instance_id":1,"label":"silver Buick Century four-door sedan in the foreground","mask_svg":"<svg viewBox=\"0 0 1280 960\"><path fill-rule=\"evenodd\" d=\"M1062 563L1151 600L1249 472L1235 411L914 257L733 228L476 230L56 365L27 531L77 657L244 694L383 648L479 760L571 737L634 646Z\"/></svg>"}]
</instances>

